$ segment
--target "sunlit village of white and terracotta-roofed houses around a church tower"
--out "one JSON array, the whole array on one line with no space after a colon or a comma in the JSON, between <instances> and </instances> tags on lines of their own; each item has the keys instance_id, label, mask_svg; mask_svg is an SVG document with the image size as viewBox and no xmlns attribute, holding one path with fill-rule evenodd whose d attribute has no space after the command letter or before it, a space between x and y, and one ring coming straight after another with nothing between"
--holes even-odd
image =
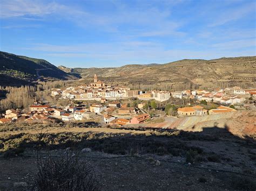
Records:
<instances>
[{"instance_id":1,"label":"sunlit village of white and terracotta-roofed houses around a church tower","mask_svg":"<svg viewBox=\"0 0 256 191\"><path fill-rule=\"evenodd\" d=\"M235 112L238 109L254 109L256 89L240 87L214 90L131 90L114 87L98 80L85 86L52 89L51 96L68 101L63 107L35 101L29 110L8 109L0 123L10 122L97 122L101 125L124 126L159 122L169 115L172 117L205 116ZM172 104L170 99L184 100L186 104ZM214 108L205 107L212 103ZM251 104L250 104L251 103ZM169 104L169 106L168 106ZM254 104L254 105L253 105ZM165 111L165 112L164 112Z\"/></svg>"}]
</instances>

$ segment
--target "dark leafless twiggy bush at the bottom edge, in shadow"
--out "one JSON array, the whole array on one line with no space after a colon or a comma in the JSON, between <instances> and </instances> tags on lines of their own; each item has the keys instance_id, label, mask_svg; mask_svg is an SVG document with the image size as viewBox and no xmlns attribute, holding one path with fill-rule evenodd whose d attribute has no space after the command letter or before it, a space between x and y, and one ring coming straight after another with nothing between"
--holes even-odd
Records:
<instances>
[{"instance_id":1,"label":"dark leafless twiggy bush at the bottom edge, in shadow","mask_svg":"<svg viewBox=\"0 0 256 191\"><path fill-rule=\"evenodd\" d=\"M38 171L35 190L99 190L92 168L74 154L39 156Z\"/></svg>"}]
</instances>

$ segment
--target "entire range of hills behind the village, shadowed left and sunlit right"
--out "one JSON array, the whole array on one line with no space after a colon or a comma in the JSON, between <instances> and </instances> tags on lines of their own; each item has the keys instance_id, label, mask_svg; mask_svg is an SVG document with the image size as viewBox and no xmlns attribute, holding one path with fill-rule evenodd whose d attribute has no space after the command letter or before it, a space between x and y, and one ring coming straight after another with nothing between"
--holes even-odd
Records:
<instances>
[{"instance_id":1,"label":"entire range of hills behind the village, shadowed left and sunlit right","mask_svg":"<svg viewBox=\"0 0 256 191\"><path fill-rule=\"evenodd\" d=\"M116 68L58 68L42 59L0 52L0 86L21 86L38 79L90 81L97 74L107 83L133 88L183 89L198 87L256 87L256 56L214 60L184 59ZM174 88L173 88L174 87Z\"/></svg>"}]
</instances>

